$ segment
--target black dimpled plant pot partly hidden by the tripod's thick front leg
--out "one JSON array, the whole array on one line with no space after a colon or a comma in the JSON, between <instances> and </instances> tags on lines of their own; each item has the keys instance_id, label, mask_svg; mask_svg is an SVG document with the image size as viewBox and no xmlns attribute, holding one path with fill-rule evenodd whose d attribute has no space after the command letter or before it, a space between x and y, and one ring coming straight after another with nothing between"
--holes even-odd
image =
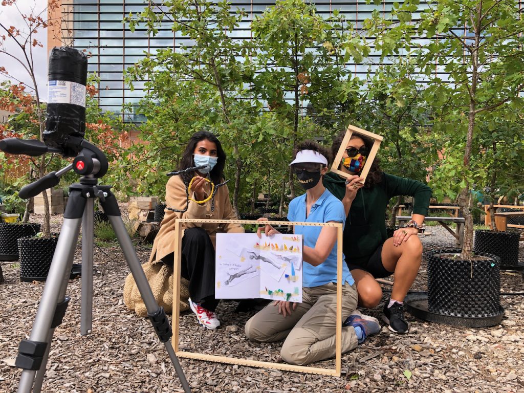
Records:
<instances>
[{"instance_id":1,"label":"black dimpled plant pot partly hidden by the tripod's thick front leg","mask_svg":"<svg viewBox=\"0 0 524 393\"><path fill-rule=\"evenodd\" d=\"M20 281L45 281L53 259L58 236L22 237L18 239Z\"/></svg>"}]
</instances>

